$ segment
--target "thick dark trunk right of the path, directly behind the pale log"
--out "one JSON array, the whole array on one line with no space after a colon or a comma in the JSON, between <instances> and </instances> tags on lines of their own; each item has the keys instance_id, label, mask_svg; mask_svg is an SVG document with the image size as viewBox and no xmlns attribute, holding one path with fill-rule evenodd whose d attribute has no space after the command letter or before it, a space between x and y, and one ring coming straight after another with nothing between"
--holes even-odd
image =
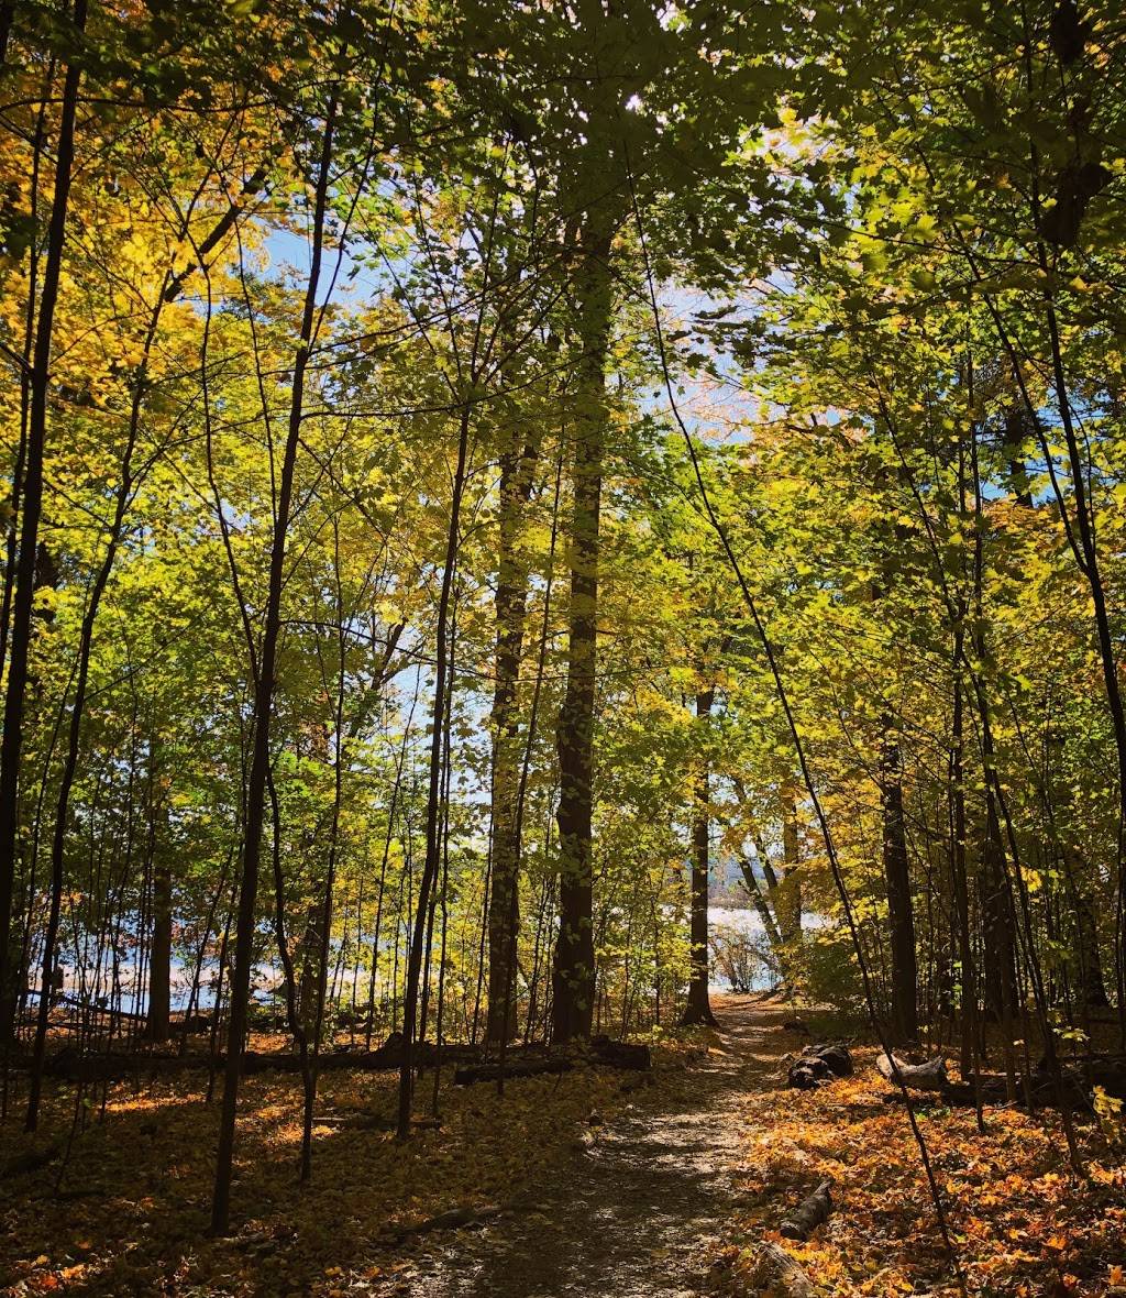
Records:
<instances>
[{"instance_id":1,"label":"thick dark trunk right of the path, directly behind the pale log","mask_svg":"<svg viewBox=\"0 0 1126 1298\"><path fill-rule=\"evenodd\" d=\"M887 889L887 924L891 948L891 1044L918 1036L918 967L915 957L915 911L903 820L903 783L899 742L892 719L883 718L880 754L880 796L883 811L883 881Z\"/></svg>"}]
</instances>

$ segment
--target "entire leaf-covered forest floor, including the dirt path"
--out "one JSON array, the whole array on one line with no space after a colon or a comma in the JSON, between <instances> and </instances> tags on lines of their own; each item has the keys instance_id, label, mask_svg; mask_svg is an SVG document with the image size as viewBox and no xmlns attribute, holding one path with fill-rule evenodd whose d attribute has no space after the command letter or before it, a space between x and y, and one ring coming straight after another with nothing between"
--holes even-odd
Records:
<instances>
[{"instance_id":1,"label":"entire leaf-covered forest floor, including the dirt path","mask_svg":"<svg viewBox=\"0 0 1126 1298\"><path fill-rule=\"evenodd\" d=\"M784 1242L825 1294L956 1293L874 1050L854 1046L854 1077L786 1090L786 1057L804 1044L782 1027L793 1011L751 997L716 998L715 1010L717 1029L659 1042L651 1073L576 1068L510 1080L503 1097L446 1084L441 1127L406 1146L387 1129L393 1076L326 1073L306 1186L294 1179L297 1079L248 1077L226 1240L205 1237L218 1105L198 1079L113 1086L104 1112L90 1097L65 1163L0 1181L0 1294L747 1295L763 1240ZM30 1138L13 1105L0 1175L65 1140L74 1112L60 1088ZM966 1293L1126 1295L1113 1132L1081 1123L1079 1177L1057 1114L990 1110L985 1136L972 1110L934 1102L918 1118ZM786 1211L822 1180L837 1212L809 1243L780 1241Z\"/></svg>"}]
</instances>

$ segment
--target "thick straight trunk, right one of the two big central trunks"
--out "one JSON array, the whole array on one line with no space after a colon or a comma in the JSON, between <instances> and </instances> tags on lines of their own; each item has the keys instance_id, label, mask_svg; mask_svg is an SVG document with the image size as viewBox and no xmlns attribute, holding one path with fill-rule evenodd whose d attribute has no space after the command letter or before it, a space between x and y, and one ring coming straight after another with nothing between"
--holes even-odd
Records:
<instances>
[{"instance_id":1,"label":"thick straight trunk, right one of the two big central trunks","mask_svg":"<svg viewBox=\"0 0 1126 1298\"><path fill-rule=\"evenodd\" d=\"M598 662L598 549L606 447L606 353L610 339L611 232L586 214L575 279L579 384L575 410L567 692L559 709L559 935L551 968L551 1035L589 1037L594 1011L594 685Z\"/></svg>"}]
</instances>

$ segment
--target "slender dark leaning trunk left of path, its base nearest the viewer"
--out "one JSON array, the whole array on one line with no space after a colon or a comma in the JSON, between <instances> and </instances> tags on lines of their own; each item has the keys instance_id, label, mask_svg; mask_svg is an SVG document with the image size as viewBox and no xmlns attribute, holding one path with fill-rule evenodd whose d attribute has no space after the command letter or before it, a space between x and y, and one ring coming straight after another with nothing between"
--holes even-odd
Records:
<instances>
[{"instance_id":1,"label":"slender dark leaning trunk left of path, its base nearest the viewer","mask_svg":"<svg viewBox=\"0 0 1126 1298\"><path fill-rule=\"evenodd\" d=\"M301 335L293 357L293 382L289 397L289 424L282 456L278 491L278 513L270 544L270 582L262 626L262 646L254 681L254 729L250 752L250 775L246 781L246 841L243 851L243 876L239 885L239 914L235 925L235 971L230 993L230 1025L227 1059L223 1071L223 1102L219 1119L219 1145L215 1159L215 1188L211 1198L211 1233L226 1234L231 1224L231 1171L235 1159L235 1119L239 1105L239 1073L246 1036L246 1010L250 998L253 964L254 911L258 900L258 867L262 859L262 828L266 816L266 781L270 775L270 718L274 710L274 676L278 670L278 640L282 632L282 587L285 575L285 548L293 504L293 479L301 445L305 408L305 376L317 319L317 291L324 251L324 215L328 205L328 170L336 126L336 96L329 97L320 145L317 177L317 200L313 215L313 248L309 283L301 313Z\"/></svg>"}]
</instances>

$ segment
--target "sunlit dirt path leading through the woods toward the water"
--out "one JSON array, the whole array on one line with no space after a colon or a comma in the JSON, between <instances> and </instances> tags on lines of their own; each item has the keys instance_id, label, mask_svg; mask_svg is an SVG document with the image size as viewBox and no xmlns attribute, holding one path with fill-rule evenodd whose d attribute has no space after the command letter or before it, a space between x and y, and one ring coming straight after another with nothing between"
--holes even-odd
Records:
<instances>
[{"instance_id":1,"label":"sunlit dirt path leading through the woods toward the water","mask_svg":"<svg viewBox=\"0 0 1126 1298\"><path fill-rule=\"evenodd\" d=\"M413 1298L689 1298L707 1288L733 1207L749 1094L771 1085L785 1018L719 997L719 1046L595 1128L527 1208L438 1245L398 1293Z\"/></svg>"}]
</instances>

